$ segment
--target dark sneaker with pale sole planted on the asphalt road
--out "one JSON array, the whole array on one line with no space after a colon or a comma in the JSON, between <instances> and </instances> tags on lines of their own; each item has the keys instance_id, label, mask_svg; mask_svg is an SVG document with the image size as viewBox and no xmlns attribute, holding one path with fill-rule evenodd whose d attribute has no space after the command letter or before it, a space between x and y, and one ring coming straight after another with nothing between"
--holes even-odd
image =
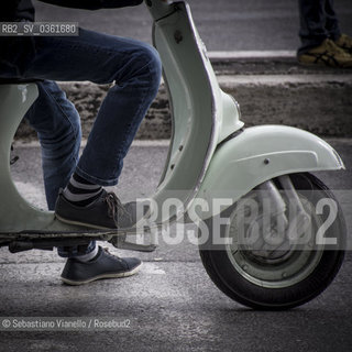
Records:
<instances>
[{"instance_id":1,"label":"dark sneaker with pale sole planted on the asphalt road","mask_svg":"<svg viewBox=\"0 0 352 352\"><path fill-rule=\"evenodd\" d=\"M68 258L61 278L67 285L84 285L102 278L132 276L141 265L136 257L119 257L99 246L98 254L89 262Z\"/></svg>"}]
</instances>

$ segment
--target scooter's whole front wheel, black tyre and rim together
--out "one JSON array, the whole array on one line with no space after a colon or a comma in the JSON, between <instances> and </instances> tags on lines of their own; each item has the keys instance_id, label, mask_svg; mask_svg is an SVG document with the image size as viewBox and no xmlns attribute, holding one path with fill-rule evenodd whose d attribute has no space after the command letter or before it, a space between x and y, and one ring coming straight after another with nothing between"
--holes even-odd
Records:
<instances>
[{"instance_id":1,"label":"scooter's whole front wheel, black tyre and rim together","mask_svg":"<svg viewBox=\"0 0 352 352\"><path fill-rule=\"evenodd\" d=\"M267 248L267 244L266 250L253 249L253 243L252 246L235 244L235 248L233 244L213 245L210 244L212 233L210 241L199 245L202 264L218 288L238 302L255 309L288 309L311 300L329 286L343 261L346 231L342 210L334 196L311 174L289 176L311 219L314 235L308 242L286 246L275 253L275 249ZM274 183L279 188L278 180L274 179ZM239 204L251 197L260 201L255 191L251 191L221 215L222 218L230 218L230 223L220 230L221 238L238 238L239 230L233 219L239 211ZM337 206L331 224L331 209L317 209L320 199L332 200ZM263 209L262 206L260 209ZM206 221L210 233L213 221L213 218ZM317 230L323 224L329 224L326 227L324 239L337 239L334 244L316 245ZM251 224L245 231L250 228ZM265 235L264 232L262 234ZM263 239L258 241L263 243Z\"/></svg>"}]
</instances>

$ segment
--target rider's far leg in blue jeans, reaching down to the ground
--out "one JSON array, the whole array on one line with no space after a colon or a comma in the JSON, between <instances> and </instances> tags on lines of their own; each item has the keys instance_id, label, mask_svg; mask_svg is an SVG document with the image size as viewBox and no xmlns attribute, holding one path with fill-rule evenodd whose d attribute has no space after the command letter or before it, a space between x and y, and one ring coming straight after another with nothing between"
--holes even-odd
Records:
<instances>
[{"instance_id":1,"label":"rider's far leg in blue jeans, reaching down to the ground","mask_svg":"<svg viewBox=\"0 0 352 352\"><path fill-rule=\"evenodd\" d=\"M56 82L45 80L36 85L38 98L25 119L37 132L41 142L46 202L48 210L54 210L59 189L67 185L78 163L80 119L75 106ZM79 248L59 248L58 255L89 258L94 257L95 249L92 241Z\"/></svg>"}]
</instances>

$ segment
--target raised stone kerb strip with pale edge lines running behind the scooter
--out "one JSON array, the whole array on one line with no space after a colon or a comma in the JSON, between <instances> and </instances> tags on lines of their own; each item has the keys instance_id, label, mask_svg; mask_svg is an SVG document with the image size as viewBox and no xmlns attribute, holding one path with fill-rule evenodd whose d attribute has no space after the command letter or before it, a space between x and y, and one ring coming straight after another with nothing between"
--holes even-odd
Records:
<instances>
[{"instance_id":1,"label":"raised stone kerb strip with pale edge lines running behind the scooter","mask_svg":"<svg viewBox=\"0 0 352 352\"><path fill-rule=\"evenodd\" d=\"M210 52L220 87L240 103L246 127L287 124L323 136L352 136L352 70L304 67L290 51ZM108 86L61 82L81 117L87 136ZM138 139L169 139L170 114L164 85L141 124ZM34 133L26 125L19 138Z\"/></svg>"}]
</instances>

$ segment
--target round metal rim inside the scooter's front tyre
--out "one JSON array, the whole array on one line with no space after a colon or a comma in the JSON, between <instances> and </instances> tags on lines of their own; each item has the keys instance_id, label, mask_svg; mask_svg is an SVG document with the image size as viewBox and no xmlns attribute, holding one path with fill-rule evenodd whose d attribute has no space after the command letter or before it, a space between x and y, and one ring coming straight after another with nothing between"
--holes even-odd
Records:
<instances>
[{"instance_id":1,"label":"round metal rim inside the scooter's front tyre","mask_svg":"<svg viewBox=\"0 0 352 352\"><path fill-rule=\"evenodd\" d=\"M300 200L311 219L311 233L316 233L321 220L315 213L311 202L299 195ZM254 197L253 197L254 198ZM256 200L257 201L257 200ZM239 210L240 209L240 210ZM244 209L244 208L243 208ZM245 211L245 210L242 210ZM256 242L243 243L243 234L250 239L251 227L260 223L257 219L249 224L241 222L241 201L230 217L226 237L230 242L226 245L227 254L235 271L246 280L265 288L285 288L307 278L319 264L323 248L315 244L315 235L305 243L287 243L287 239L275 245L264 240L264 232ZM262 245L262 243L264 245Z\"/></svg>"}]
</instances>

